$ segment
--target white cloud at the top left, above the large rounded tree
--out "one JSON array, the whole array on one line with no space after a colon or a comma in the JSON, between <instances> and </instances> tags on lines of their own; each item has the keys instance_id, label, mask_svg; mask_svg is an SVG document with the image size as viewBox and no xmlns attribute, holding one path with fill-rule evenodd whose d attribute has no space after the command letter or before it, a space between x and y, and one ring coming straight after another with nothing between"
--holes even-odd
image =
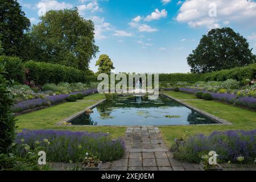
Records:
<instances>
[{"instance_id":1,"label":"white cloud at the top left, above the large rounded tree","mask_svg":"<svg viewBox=\"0 0 256 182\"><path fill-rule=\"evenodd\" d=\"M36 4L36 7L39 9L38 15L42 16L46 14L46 11L71 9L73 5L66 2L58 2L55 0L42 0L38 4Z\"/></svg>"}]
</instances>

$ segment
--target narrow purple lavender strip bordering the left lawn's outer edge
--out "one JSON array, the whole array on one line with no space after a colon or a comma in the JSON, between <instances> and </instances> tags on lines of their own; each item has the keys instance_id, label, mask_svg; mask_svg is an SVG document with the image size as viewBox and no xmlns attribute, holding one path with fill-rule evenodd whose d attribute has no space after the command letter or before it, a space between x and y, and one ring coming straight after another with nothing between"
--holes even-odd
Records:
<instances>
[{"instance_id":1,"label":"narrow purple lavender strip bordering the left lawn's outer edge","mask_svg":"<svg viewBox=\"0 0 256 182\"><path fill-rule=\"evenodd\" d=\"M64 102L65 99L72 94L82 93L84 94L84 96L88 96L89 94L93 94L97 92L98 92L97 89L89 89L81 92L73 92L70 94L60 94L56 96L48 96L45 98L35 98L32 100L22 101L22 102L19 102L18 104L14 104L14 106L12 107L12 110L14 113L18 113L24 110L34 109L40 106L49 106L49 105L59 104L60 102Z\"/></svg>"}]
</instances>

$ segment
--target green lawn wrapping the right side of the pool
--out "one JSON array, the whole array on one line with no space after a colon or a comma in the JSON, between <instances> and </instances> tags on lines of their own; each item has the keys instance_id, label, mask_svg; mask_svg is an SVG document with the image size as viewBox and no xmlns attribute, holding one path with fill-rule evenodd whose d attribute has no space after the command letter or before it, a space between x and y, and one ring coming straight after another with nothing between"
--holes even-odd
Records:
<instances>
[{"instance_id":1,"label":"green lawn wrapping the right side of the pool","mask_svg":"<svg viewBox=\"0 0 256 182\"><path fill-rule=\"evenodd\" d=\"M195 99L193 94L181 92L164 92L169 96L177 99ZM223 130L253 130L256 129L256 112L241 109L227 104L222 104L216 101L204 100L187 100L183 101L188 105L195 106L198 109L207 111L210 114L216 115L219 118L229 121L233 125L226 126L163 126L160 127L164 139L167 144L170 144L174 138L184 137L184 135L195 134L210 134L212 131Z\"/></svg>"}]
</instances>

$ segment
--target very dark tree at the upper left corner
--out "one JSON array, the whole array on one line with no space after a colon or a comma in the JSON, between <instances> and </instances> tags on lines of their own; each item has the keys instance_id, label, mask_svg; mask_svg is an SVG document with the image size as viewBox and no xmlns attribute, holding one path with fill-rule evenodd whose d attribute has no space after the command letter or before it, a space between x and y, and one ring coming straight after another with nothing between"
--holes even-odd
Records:
<instances>
[{"instance_id":1,"label":"very dark tree at the upper left corner","mask_svg":"<svg viewBox=\"0 0 256 182\"><path fill-rule=\"evenodd\" d=\"M29 27L30 20L17 1L0 0L0 36L6 56L27 58L27 38L24 32Z\"/></svg>"}]
</instances>

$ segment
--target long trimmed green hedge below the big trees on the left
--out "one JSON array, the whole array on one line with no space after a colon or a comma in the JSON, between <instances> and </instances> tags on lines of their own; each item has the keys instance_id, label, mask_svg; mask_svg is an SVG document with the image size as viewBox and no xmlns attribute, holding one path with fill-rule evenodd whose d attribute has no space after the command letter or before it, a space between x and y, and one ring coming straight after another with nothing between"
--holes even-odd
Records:
<instances>
[{"instance_id":1,"label":"long trimmed green hedge below the big trees on the left","mask_svg":"<svg viewBox=\"0 0 256 182\"><path fill-rule=\"evenodd\" d=\"M97 81L97 77L90 71L80 71L59 64L36 61L22 63L18 57L0 56L0 63L5 62L7 80L14 80L22 84L25 80L34 81L36 85Z\"/></svg>"}]
</instances>

